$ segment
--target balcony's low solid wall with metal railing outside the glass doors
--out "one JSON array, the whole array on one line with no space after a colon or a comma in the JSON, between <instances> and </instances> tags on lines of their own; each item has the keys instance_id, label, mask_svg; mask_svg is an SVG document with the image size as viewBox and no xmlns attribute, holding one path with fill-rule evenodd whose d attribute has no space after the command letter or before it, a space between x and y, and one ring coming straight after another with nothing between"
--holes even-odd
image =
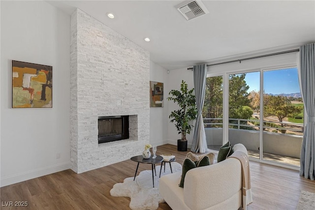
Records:
<instances>
[{"instance_id":1,"label":"balcony's low solid wall with metal railing outside the glass doors","mask_svg":"<svg viewBox=\"0 0 315 210\"><path fill-rule=\"evenodd\" d=\"M208 147L218 150L223 139L222 118L204 118ZM278 161L294 159L289 164L299 165L303 140L303 123L263 121L263 155L271 155ZM281 126L282 125L282 126ZM229 119L229 141L232 145L242 143L249 153L259 157L259 120ZM275 131L277 130L277 131ZM280 132L278 132L278 130ZM286 134L284 134L287 131ZM276 133L277 132L277 133ZM266 155L266 156L265 156Z\"/></svg>"}]
</instances>

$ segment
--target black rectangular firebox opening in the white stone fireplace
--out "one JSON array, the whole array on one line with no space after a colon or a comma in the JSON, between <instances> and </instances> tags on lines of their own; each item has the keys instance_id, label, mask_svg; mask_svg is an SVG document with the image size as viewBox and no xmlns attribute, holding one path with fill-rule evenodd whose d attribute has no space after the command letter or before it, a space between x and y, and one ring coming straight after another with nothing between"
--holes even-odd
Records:
<instances>
[{"instance_id":1,"label":"black rectangular firebox opening in the white stone fireplace","mask_svg":"<svg viewBox=\"0 0 315 210\"><path fill-rule=\"evenodd\" d=\"M98 117L98 144L129 138L129 116Z\"/></svg>"}]
</instances>

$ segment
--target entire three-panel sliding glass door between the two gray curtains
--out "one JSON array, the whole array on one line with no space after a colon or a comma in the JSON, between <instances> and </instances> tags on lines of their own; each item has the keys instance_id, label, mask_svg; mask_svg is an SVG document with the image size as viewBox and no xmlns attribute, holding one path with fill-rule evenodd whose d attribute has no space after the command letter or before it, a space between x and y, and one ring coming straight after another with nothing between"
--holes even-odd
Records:
<instances>
[{"instance_id":1,"label":"entire three-panel sliding glass door between the two gray curtains","mask_svg":"<svg viewBox=\"0 0 315 210\"><path fill-rule=\"evenodd\" d=\"M299 166L304 104L296 67L208 77L203 117L208 149L228 140L262 162Z\"/></svg>"}]
</instances>

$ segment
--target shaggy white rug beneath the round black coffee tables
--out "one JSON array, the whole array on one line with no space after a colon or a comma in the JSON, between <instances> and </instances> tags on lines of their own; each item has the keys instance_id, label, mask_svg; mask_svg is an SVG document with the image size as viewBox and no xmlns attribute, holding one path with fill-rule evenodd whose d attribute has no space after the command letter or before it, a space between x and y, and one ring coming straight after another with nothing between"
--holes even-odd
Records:
<instances>
[{"instance_id":1,"label":"shaggy white rug beneath the round black coffee tables","mask_svg":"<svg viewBox=\"0 0 315 210\"><path fill-rule=\"evenodd\" d=\"M182 170L182 165L177 162L172 162L173 173ZM152 171L142 171L133 180L133 177L126 178L124 183L116 183L110 190L111 196L114 197L129 197L129 207L132 210L156 210L158 204L163 203L164 199L158 191L160 165L156 166L157 176L154 177L154 188L152 181ZM166 163L165 173L164 164L161 172L161 177L170 174L171 169L169 163Z\"/></svg>"}]
</instances>

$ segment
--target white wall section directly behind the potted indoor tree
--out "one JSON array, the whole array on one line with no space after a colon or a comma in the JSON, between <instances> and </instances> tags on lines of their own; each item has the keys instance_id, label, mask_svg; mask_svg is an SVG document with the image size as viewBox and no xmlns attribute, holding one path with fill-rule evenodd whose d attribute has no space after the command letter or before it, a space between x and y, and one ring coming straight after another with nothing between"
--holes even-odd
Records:
<instances>
[{"instance_id":1,"label":"white wall section directly behind the potted indoor tree","mask_svg":"<svg viewBox=\"0 0 315 210\"><path fill-rule=\"evenodd\" d=\"M190 66L188 66L190 67ZM188 89L193 88L193 74L191 70L187 70L187 68L180 68L175 70L169 71L169 77L168 77L168 89L165 89L166 94L165 98L168 97L168 93L170 90L180 90L182 80L184 80L188 84ZM178 109L178 105L175 104L173 101L167 101L168 111L167 111L167 119L165 120L165 123L167 123L168 126L168 132L167 132L167 138L168 143L177 145L177 140L181 139L181 134L178 134L178 131L174 125L174 123L169 122L170 119L168 119L168 116L170 113L174 110ZM190 132L190 135L187 134L186 138L188 140L188 148L191 147L192 143L192 137L193 137L193 128Z\"/></svg>"}]
</instances>

